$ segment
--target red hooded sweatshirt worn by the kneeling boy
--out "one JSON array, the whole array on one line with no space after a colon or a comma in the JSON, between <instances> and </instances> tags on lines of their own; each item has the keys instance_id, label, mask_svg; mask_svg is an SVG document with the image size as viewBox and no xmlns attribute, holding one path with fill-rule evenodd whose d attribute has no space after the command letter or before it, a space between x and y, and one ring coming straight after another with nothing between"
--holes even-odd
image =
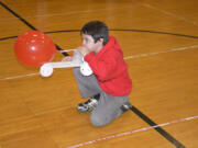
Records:
<instances>
[{"instance_id":1,"label":"red hooded sweatshirt worn by the kneeling boy","mask_svg":"<svg viewBox=\"0 0 198 148\"><path fill-rule=\"evenodd\" d=\"M132 82L128 73L128 65L123 59L122 49L112 36L103 48L95 55L85 56L101 89L113 96L125 96L131 92Z\"/></svg>"}]
</instances>

